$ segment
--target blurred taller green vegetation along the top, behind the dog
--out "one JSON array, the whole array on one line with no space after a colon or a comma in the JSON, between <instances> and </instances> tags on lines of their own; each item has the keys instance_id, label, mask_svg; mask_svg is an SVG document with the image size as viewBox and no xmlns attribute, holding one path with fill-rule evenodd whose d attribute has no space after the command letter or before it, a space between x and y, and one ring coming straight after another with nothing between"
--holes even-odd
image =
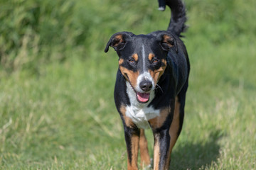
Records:
<instances>
[{"instance_id":1,"label":"blurred taller green vegetation along the top, behind the dog","mask_svg":"<svg viewBox=\"0 0 256 170\"><path fill-rule=\"evenodd\" d=\"M254 42L255 1L193 0L186 1L186 6L189 38L208 38L218 45L239 41L247 34L247 43ZM63 62L76 52L82 60L102 50L107 38L117 31L164 30L169 9L161 13L156 8L155 1L1 0L1 69L38 72L42 64Z\"/></svg>"}]
</instances>

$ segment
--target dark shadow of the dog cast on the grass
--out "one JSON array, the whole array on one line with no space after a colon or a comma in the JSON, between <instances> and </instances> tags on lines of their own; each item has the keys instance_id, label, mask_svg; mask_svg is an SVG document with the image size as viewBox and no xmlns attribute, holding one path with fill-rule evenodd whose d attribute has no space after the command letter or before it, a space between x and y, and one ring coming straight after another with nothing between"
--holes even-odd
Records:
<instances>
[{"instance_id":1,"label":"dark shadow of the dog cast on the grass","mask_svg":"<svg viewBox=\"0 0 256 170\"><path fill-rule=\"evenodd\" d=\"M212 132L207 140L176 145L171 154L171 169L204 169L219 157L218 140L223 137L218 130Z\"/></svg>"}]
</instances>

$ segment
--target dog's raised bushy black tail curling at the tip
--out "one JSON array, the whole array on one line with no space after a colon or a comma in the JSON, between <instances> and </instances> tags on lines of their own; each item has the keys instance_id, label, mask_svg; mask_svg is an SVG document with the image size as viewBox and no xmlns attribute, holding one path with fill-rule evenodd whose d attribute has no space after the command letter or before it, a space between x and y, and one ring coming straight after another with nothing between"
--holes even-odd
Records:
<instances>
[{"instance_id":1,"label":"dog's raised bushy black tail curling at the tip","mask_svg":"<svg viewBox=\"0 0 256 170\"><path fill-rule=\"evenodd\" d=\"M164 11L166 5L171 8L171 20L167 28L168 31L181 36L187 26L186 22L186 8L181 0L158 0L159 10Z\"/></svg>"}]
</instances>

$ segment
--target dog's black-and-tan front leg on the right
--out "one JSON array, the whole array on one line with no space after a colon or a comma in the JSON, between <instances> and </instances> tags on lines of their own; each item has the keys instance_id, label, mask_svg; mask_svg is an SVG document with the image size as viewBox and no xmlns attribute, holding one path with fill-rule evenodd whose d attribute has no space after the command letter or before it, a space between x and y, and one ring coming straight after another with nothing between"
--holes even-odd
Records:
<instances>
[{"instance_id":1,"label":"dog's black-and-tan front leg on the right","mask_svg":"<svg viewBox=\"0 0 256 170\"><path fill-rule=\"evenodd\" d=\"M170 164L169 129L154 132L154 170L168 170Z\"/></svg>"}]
</instances>

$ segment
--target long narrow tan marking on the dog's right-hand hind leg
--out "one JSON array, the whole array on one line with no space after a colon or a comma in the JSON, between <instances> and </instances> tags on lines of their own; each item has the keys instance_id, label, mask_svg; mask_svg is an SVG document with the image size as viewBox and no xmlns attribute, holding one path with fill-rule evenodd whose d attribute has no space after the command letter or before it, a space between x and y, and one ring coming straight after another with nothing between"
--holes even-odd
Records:
<instances>
[{"instance_id":1,"label":"long narrow tan marking on the dog's right-hand hind leg","mask_svg":"<svg viewBox=\"0 0 256 170\"><path fill-rule=\"evenodd\" d=\"M178 97L176 97L174 118L172 120L171 127L169 129L169 134L171 136L171 150L174 147L176 140L178 139L180 107L181 107L181 103L178 102Z\"/></svg>"}]
</instances>

